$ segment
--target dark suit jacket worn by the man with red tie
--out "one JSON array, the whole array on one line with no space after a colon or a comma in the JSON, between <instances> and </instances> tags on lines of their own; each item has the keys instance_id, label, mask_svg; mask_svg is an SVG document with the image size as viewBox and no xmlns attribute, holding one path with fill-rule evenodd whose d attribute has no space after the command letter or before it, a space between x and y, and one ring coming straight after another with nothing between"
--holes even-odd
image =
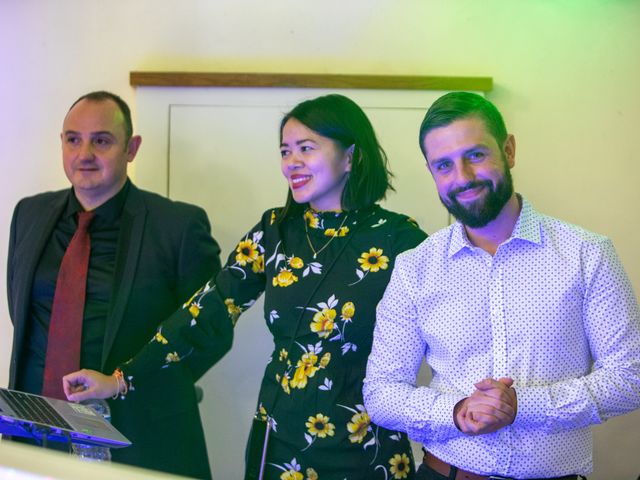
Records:
<instances>
[{"instance_id":1,"label":"dark suit jacket worn by the man with red tie","mask_svg":"<svg viewBox=\"0 0 640 480\"><path fill-rule=\"evenodd\" d=\"M14 326L9 387L25 344L33 276L71 189L21 200L11 222L7 288ZM206 213L131 185L122 213L102 371L135 355L156 327L220 269L220 249ZM113 400L112 422L133 446L114 461L199 478L210 477L194 382L215 361L194 355L163 369L144 388ZM149 381L147 381L149 380Z\"/></svg>"}]
</instances>

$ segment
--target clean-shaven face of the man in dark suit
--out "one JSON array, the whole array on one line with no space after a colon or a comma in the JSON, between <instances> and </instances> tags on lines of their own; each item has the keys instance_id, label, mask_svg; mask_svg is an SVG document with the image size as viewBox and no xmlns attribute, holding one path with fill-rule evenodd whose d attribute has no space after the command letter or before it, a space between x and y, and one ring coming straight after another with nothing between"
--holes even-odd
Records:
<instances>
[{"instance_id":1,"label":"clean-shaven face of the man in dark suit","mask_svg":"<svg viewBox=\"0 0 640 480\"><path fill-rule=\"evenodd\" d=\"M97 207L120 191L140 137L125 139L124 116L112 100L81 100L64 119L62 162L78 200Z\"/></svg>"}]
</instances>

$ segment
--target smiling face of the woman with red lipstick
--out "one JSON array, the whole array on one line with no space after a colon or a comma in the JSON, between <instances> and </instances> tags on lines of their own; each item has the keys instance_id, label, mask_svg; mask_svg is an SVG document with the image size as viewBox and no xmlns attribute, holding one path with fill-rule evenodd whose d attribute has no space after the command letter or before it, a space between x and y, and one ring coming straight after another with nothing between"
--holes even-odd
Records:
<instances>
[{"instance_id":1,"label":"smiling face of the woman with red lipstick","mask_svg":"<svg viewBox=\"0 0 640 480\"><path fill-rule=\"evenodd\" d=\"M345 150L290 118L282 129L280 153L282 174L297 203L319 211L341 210L353 147Z\"/></svg>"}]
</instances>

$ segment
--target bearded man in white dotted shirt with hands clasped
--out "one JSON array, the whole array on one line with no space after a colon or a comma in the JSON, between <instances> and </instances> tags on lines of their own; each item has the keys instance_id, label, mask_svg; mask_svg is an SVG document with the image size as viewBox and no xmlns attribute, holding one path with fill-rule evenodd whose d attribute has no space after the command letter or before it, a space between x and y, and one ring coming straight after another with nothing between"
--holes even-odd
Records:
<instances>
[{"instance_id":1,"label":"bearded man in white dotted shirt with hands clasped","mask_svg":"<svg viewBox=\"0 0 640 480\"><path fill-rule=\"evenodd\" d=\"M457 222L396 260L371 420L423 444L417 478L584 478L591 425L640 407L640 313L615 249L515 193L515 139L485 98L438 99L420 146Z\"/></svg>"}]
</instances>

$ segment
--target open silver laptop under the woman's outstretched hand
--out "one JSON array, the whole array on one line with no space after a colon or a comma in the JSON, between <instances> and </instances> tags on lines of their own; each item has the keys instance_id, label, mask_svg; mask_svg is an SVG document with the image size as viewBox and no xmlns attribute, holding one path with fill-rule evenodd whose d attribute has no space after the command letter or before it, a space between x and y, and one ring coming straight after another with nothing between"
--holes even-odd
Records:
<instances>
[{"instance_id":1,"label":"open silver laptop under the woman's outstretched hand","mask_svg":"<svg viewBox=\"0 0 640 480\"><path fill-rule=\"evenodd\" d=\"M91 407L0 388L0 433L110 448L131 442Z\"/></svg>"}]
</instances>

